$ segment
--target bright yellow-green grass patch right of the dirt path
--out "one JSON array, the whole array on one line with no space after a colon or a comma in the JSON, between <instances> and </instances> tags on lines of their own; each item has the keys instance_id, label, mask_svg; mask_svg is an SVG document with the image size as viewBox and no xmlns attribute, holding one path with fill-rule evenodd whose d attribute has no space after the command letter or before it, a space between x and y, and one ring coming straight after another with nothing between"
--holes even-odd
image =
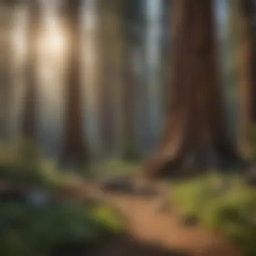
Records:
<instances>
[{"instance_id":1,"label":"bright yellow-green grass patch right of the dirt path","mask_svg":"<svg viewBox=\"0 0 256 256\"><path fill-rule=\"evenodd\" d=\"M220 179L230 182L229 189L214 188ZM196 216L205 227L241 243L247 255L256 255L256 189L238 177L210 175L174 185L172 199L181 215Z\"/></svg>"}]
</instances>

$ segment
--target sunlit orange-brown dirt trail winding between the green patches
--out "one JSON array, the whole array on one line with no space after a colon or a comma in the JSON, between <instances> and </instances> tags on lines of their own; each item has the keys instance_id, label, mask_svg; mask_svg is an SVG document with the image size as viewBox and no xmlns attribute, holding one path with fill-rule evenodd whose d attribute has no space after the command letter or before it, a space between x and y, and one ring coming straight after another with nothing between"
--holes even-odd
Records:
<instances>
[{"instance_id":1,"label":"sunlit orange-brown dirt trail winding between the green patches","mask_svg":"<svg viewBox=\"0 0 256 256\"><path fill-rule=\"evenodd\" d=\"M90 191L100 195L91 187ZM181 251L195 256L241 256L243 253L231 245L220 234L204 230L201 226L185 227L177 216L159 213L158 199L146 199L129 195L104 194L113 205L127 218L128 231L137 241L150 243L166 249Z\"/></svg>"}]
</instances>

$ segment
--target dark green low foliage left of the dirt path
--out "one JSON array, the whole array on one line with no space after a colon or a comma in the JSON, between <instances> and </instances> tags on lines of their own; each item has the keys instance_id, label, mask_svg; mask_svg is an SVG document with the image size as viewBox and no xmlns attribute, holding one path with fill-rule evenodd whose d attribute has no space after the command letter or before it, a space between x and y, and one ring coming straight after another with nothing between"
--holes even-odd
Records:
<instances>
[{"instance_id":1,"label":"dark green low foliage left of the dirt path","mask_svg":"<svg viewBox=\"0 0 256 256\"><path fill-rule=\"evenodd\" d=\"M60 203L33 208L5 203L0 212L0 251L3 255L50 255L56 248L90 245L124 230L125 222L110 206Z\"/></svg>"}]
</instances>

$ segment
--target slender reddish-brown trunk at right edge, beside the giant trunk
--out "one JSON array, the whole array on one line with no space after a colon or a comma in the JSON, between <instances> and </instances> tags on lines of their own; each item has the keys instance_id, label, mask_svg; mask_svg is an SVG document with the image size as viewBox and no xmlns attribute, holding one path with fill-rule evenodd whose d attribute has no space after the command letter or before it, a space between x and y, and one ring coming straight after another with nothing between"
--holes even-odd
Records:
<instances>
[{"instance_id":1,"label":"slender reddish-brown trunk at right edge, beside the giant trunk","mask_svg":"<svg viewBox=\"0 0 256 256\"><path fill-rule=\"evenodd\" d=\"M240 0L238 13L240 14L240 31L238 46L238 72L240 88L240 129L238 138L238 148L245 156L251 154L251 124L253 102L253 45L252 45L252 24L253 24L253 3L251 0Z\"/></svg>"}]
</instances>

